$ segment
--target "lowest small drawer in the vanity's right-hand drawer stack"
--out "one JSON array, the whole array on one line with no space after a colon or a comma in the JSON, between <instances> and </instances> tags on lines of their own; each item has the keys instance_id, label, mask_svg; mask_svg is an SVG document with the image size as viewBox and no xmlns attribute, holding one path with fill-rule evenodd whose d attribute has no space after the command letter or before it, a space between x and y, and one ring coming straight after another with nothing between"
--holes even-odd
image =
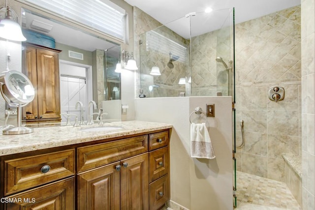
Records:
<instances>
[{"instance_id":1,"label":"lowest small drawer in the vanity's right-hand drawer stack","mask_svg":"<svg viewBox=\"0 0 315 210\"><path fill-rule=\"evenodd\" d=\"M164 177L152 182L149 185L149 188L150 210L158 210L170 198L168 175L165 175Z\"/></svg>"}]
</instances>

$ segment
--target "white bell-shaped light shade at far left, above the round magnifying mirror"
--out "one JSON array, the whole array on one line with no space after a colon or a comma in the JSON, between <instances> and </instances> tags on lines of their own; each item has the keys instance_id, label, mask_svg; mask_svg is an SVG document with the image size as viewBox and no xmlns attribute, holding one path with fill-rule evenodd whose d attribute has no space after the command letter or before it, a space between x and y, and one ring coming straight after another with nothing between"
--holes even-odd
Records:
<instances>
[{"instance_id":1,"label":"white bell-shaped light shade at far left, above the round magnifying mirror","mask_svg":"<svg viewBox=\"0 0 315 210\"><path fill-rule=\"evenodd\" d=\"M0 37L13 41L26 41L20 25L11 16L11 10L8 6L6 6L5 18L0 21Z\"/></svg>"}]
</instances>

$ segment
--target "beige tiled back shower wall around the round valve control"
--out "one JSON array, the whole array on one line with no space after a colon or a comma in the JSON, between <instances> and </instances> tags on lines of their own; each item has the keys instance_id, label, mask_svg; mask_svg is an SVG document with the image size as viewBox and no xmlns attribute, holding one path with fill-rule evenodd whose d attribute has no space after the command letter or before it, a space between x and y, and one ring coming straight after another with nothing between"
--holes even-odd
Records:
<instances>
[{"instance_id":1,"label":"beige tiled back shower wall around the round valve control","mask_svg":"<svg viewBox=\"0 0 315 210\"><path fill-rule=\"evenodd\" d=\"M301 155L301 12L288 8L235 26L237 169L284 181L282 153ZM284 100L268 98L283 87Z\"/></svg>"}]
</instances>

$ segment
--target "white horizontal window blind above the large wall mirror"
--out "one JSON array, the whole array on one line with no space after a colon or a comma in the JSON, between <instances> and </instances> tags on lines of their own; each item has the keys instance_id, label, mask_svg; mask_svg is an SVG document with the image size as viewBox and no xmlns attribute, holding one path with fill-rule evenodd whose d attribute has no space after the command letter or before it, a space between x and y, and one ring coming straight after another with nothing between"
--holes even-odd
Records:
<instances>
[{"instance_id":1,"label":"white horizontal window blind above the large wall mirror","mask_svg":"<svg viewBox=\"0 0 315 210\"><path fill-rule=\"evenodd\" d=\"M123 41L126 11L109 0L25 0Z\"/></svg>"}]
</instances>

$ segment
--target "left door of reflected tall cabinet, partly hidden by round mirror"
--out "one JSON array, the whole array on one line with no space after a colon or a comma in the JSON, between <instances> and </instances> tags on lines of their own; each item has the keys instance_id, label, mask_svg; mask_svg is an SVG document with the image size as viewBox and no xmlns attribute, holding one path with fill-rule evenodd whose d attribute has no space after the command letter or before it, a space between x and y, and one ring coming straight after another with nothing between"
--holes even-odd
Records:
<instances>
[{"instance_id":1,"label":"left door of reflected tall cabinet, partly hidden by round mirror","mask_svg":"<svg viewBox=\"0 0 315 210\"><path fill-rule=\"evenodd\" d=\"M36 68L36 48L25 47L22 51L23 73L30 79L35 90L37 90L37 68ZM23 107L23 119L34 120L38 116L37 109L37 91L35 91L34 100L27 106Z\"/></svg>"}]
</instances>

